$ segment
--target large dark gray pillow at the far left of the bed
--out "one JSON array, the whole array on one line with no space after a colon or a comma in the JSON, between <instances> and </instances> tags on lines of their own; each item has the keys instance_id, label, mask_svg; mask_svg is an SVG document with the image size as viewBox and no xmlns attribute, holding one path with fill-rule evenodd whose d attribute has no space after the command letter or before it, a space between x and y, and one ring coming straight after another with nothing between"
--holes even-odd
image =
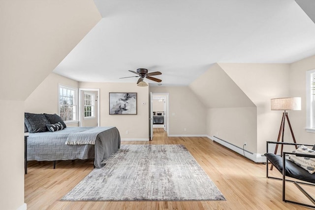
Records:
<instances>
[{"instance_id":1,"label":"large dark gray pillow at the far left of the bed","mask_svg":"<svg viewBox=\"0 0 315 210\"><path fill-rule=\"evenodd\" d=\"M46 124L50 124L45 115L28 112L24 113L24 122L29 133L45 132Z\"/></svg>"}]
</instances>

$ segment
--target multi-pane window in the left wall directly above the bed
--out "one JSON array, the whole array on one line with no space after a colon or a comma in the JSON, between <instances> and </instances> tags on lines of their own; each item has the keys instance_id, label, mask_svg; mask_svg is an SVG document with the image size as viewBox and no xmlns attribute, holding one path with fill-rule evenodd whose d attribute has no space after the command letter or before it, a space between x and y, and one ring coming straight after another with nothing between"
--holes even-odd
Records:
<instances>
[{"instance_id":1,"label":"multi-pane window in the left wall directly above the bed","mask_svg":"<svg viewBox=\"0 0 315 210\"><path fill-rule=\"evenodd\" d=\"M59 114L63 121L77 119L77 91L74 88L59 86Z\"/></svg>"}]
</instances>

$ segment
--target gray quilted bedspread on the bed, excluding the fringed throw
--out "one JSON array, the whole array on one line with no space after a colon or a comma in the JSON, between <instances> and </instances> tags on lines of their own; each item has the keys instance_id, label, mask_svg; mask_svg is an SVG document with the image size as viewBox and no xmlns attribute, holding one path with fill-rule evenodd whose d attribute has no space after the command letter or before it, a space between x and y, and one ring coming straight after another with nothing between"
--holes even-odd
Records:
<instances>
[{"instance_id":1,"label":"gray quilted bedspread on the bed, excluding the fringed throw","mask_svg":"<svg viewBox=\"0 0 315 210\"><path fill-rule=\"evenodd\" d=\"M65 141L72 133L88 131L94 127L67 127L56 132L29 134L27 160L55 161L95 158L94 165L101 168L101 162L120 148L120 134L116 127L104 127L96 135L95 145L67 145Z\"/></svg>"}]
</instances>

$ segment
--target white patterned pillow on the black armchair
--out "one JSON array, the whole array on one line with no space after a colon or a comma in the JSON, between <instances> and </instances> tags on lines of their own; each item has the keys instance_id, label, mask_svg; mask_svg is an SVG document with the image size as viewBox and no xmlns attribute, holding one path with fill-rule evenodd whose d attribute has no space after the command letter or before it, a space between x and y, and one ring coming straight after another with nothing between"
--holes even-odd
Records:
<instances>
[{"instance_id":1,"label":"white patterned pillow on the black armchair","mask_svg":"<svg viewBox=\"0 0 315 210\"><path fill-rule=\"evenodd\" d=\"M298 148L292 153L300 153L300 154L309 154L309 155L315 155L315 151L304 146L300 145ZM300 166L301 168L308 171L310 174L315 173L315 158L309 158L309 157L298 157L296 155L289 155L289 159L295 163L296 165Z\"/></svg>"}]
</instances>

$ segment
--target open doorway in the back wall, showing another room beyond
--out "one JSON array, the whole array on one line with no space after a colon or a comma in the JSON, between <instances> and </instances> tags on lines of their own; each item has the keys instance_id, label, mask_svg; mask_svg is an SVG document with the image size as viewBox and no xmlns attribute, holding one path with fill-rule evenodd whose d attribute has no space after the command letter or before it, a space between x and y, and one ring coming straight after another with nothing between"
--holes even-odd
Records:
<instances>
[{"instance_id":1,"label":"open doorway in the back wall, showing another room beyond","mask_svg":"<svg viewBox=\"0 0 315 210\"><path fill-rule=\"evenodd\" d=\"M150 140L153 140L169 134L169 94L151 93L150 98Z\"/></svg>"}]
</instances>

